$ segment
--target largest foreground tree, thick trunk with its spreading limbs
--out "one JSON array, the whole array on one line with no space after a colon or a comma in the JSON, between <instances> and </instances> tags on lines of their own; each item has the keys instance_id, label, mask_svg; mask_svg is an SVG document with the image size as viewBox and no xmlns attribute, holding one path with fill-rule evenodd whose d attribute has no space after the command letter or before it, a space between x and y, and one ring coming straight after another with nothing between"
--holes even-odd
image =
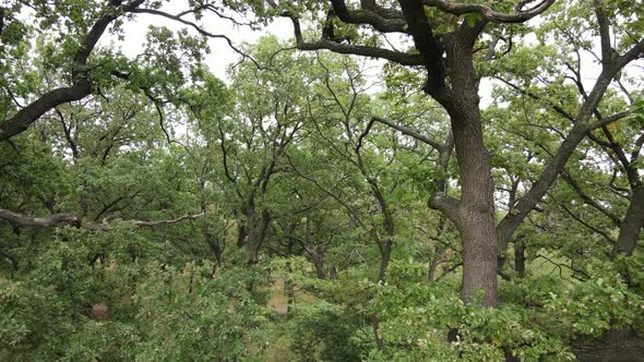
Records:
<instances>
[{"instance_id":1,"label":"largest foreground tree, thick trunk with its spreading limbs","mask_svg":"<svg viewBox=\"0 0 644 362\"><path fill-rule=\"evenodd\" d=\"M296 44L299 49L327 49L334 52L385 59L407 67L422 67L427 72L424 92L436 99L450 114L456 157L460 166L461 198L458 201L437 195L430 205L442 210L457 226L463 240L463 289L462 298L472 299L476 290L485 291L484 305L498 304L497 258L505 252L508 240L529 212L544 197L563 165L585 134L608 124L623 114L611 114L592 121L611 81L629 62L644 50L644 39L629 38L620 44L621 52L610 44L611 22L601 1L594 3L597 22L591 25L598 29L601 39L601 65L592 92L572 117L574 126L554 156L548 161L537 182L517 202L515 213L508 214L498 226L494 222L493 182L489 155L486 149L479 110L478 84L484 74L475 63L485 60L475 48L480 47L481 34L486 31L499 34L502 24L523 23L548 10L553 0L535 4L522 1L514 12L499 12L485 4L452 3L442 0L405 0L381 5L375 1L361 1L358 8L343 0L324 4L269 1L272 14L293 20ZM528 7L529 5L529 7ZM357 34L358 29L371 29L372 37L338 41L322 32L315 41L307 41L302 35L300 17L327 13L324 24L335 26L335 32ZM504 8L503 10L508 10ZM615 24L613 24L615 25ZM327 27L325 27L327 28ZM367 31L369 32L369 31ZM398 51L380 46L379 36L396 33L414 44L414 51ZM373 39L373 37L375 39ZM499 37L485 48L493 49ZM478 41L478 43L477 43ZM484 49L485 49L484 48Z\"/></svg>"}]
</instances>

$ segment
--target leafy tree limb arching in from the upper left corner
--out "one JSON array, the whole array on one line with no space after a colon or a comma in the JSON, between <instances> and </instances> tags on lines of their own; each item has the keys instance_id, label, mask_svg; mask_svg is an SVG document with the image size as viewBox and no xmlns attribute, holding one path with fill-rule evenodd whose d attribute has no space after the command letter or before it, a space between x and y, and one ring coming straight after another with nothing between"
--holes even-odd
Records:
<instances>
[{"instance_id":1,"label":"leafy tree limb arching in from the upper left corner","mask_svg":"<svg viewBox=\"0 0 644 362\"><path fill-rule=\"evenodd\" d=\"M122 82L127 88L143 92L159 107L160 112L162 106L181 101L170 90L187 82L189 68L198 65L203 53L208 51L206 38L223 39L240 52L228 37L208 32L199 24L199 20L207 14L238 24L235 16L247 10L245 2L189 2L177 14L166 12L163 5L164 1L146 0L107 0L98 5L74 1L56 4L17 1L10 8L2 8L0 19L7 25L0 32L3 44L0 71L4 75L0 94L3 105L0 141L24 132L60 105L104 94ZM153 26L148 34L148 39L153 41L134 61L112 49L98 47L99 40L108 33L127 39L128 35L123 34L121 25L133 20L136 14L169 19L184 28L175 37L169 29ZM24 16L31 16L29 21L36 25L25 26ZM251 22L249 25L257 24ZM25 80L33 81L29 77L33 74L22 73L25 71L24 65L29 62L29 37L36 31L41 33L41 55L46 58L43 63L47 71L58 75L57 82L39 93L21 85ZM21 98L26 101L24 105Z\"/></svg>"}]
</instances>

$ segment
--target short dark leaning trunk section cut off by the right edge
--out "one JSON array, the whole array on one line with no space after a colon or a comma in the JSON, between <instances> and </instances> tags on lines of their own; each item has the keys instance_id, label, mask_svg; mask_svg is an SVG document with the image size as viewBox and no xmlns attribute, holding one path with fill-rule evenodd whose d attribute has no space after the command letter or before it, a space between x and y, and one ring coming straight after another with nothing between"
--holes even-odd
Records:
<instances>
[{"instance_id":1,"label":"short dark leaning trunk section cut off by the right edge","mask_svg":"<svg viewBox=\"0 0 644 362\"><path fill-rule=\"evenodd\" d=\"M619 228L617 251L625 255L632 255L637 246L640 233L644 227L644 185L633 190L633 198L627 210L624 220Z\"/></svg>"}]
</instances>

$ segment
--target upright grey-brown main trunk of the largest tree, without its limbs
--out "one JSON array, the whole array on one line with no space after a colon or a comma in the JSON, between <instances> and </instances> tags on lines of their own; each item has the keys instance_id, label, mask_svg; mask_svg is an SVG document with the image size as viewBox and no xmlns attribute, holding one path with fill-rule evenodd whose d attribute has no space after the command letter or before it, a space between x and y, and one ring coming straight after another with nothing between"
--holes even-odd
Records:
<instances>
[{"instance_id":1,"label":"upright grey-brown main trunk of the largest tree, without its limbs","mask_svg":"<svg viewBox=\"0 0 644 362\"><path fill-rule=\"evenodd\" d=\"M477 33L476 29L470 32ZM450 114L461 176L457 226L463 241L461 298L468 302L478 290L482 290L482 305L497 306L494 184L478 106L472 59L474 38L465 32L446 43L445 62L451 70L452 87L450 92L439 92L432 96Z\"/></svg>"}]
</instances>

